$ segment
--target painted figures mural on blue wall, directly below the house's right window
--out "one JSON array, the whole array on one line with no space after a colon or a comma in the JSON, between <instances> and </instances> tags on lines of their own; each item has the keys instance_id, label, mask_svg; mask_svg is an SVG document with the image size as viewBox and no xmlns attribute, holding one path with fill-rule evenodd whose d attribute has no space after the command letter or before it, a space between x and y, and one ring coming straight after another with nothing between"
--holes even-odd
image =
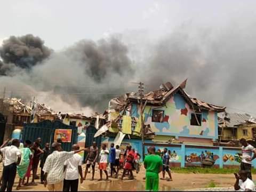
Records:
<instances>
[{"instance_id":1,"label":"painted figures mural on blue wall, directly below the house's right window","mask_svg":"<svg viewBox=\"0 0 256 192\"><path fill-rule=\"evenodd\" d=\"M185 155L185 161L187 163L199 163L203 162L205 159L211 159L212 161L217 161L218 155L212 153L212 151L202 151L201 154L191 153L190 155Z\"/></svg>"}]
</instances>

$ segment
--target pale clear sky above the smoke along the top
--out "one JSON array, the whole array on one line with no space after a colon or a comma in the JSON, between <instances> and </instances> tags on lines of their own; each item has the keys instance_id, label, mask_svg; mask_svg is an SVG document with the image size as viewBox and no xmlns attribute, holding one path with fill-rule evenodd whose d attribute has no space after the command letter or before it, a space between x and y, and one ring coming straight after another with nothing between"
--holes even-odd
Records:
<instances>
[{"instance_id":1,"label":"pale clear sky above the smoke along the top","mask_svg":"<svg viewBox=\"0 0 256 192\"><path fill-rule=\"evenodd\" d=\"M0 39L34 34L54 50L127 30L153 37L182 23L214 26L255 17L255 1L2 1ZM1 40L0 40L1 41Z\"/></svg>"}]
</instances>

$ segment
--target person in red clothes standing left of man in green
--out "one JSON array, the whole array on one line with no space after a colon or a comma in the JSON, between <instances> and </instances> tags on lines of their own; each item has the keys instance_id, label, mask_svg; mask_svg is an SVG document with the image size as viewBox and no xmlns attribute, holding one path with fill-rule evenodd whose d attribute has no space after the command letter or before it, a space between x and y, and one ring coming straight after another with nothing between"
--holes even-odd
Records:
<instances>
[{"instance_id":1,"label":"person in red clothes standing left of man in green","mask_svg":"<svg viewBox=\"0 0 256 192\"><path fill-rule=\"evenodd\" d=\"M126 147L126 156L125 156L125 163L124 163L124 171L123 171L123 175L122 175L122 180L124 178L125 172L129 171L130 173L130 180L133 180L133 174L132 174L132 163L133 163L133 159L134 159L134 152L132 150L132 146L127 146Z\"/></svg>"}]
</instances>

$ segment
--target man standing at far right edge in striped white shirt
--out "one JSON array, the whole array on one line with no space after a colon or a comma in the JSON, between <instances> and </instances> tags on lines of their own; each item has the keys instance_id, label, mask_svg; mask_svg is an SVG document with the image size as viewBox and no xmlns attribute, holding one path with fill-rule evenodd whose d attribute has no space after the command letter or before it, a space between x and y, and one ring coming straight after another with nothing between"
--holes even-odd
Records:
<instances>
[{"instance_id":1,"label":"man standing at far right edge in striped white shirt","mask_svg":"<svg viewBox=\"0 0 256 192\"><path fill-rule=\"evenodd\" d=\"M248 144L244 138L240 140L240 143L242 144L242 162L240 168L241 170L247 171L248 178L252 180L252 160L256 157L256 149Z\"/></svg>"}]
</instances>

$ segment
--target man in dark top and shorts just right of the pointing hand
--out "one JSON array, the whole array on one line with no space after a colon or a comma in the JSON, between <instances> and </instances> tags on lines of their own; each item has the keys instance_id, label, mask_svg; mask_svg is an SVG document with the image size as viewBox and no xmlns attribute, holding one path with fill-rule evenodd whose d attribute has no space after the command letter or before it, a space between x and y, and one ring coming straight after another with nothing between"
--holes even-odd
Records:
<instances>
[{"instance_id":1,"label":"man in dark top and shorts just right of the pointing hand","mask_svg":"<svg viewBox=\"0 0 256 192\"><path fill-rule=\"evenodd\" d=\"M94 180L94 173L95 173L95 164L97 161L97 158L99 156L99 149L97 147L97 143L95 141L93 141L92 146L90 147L90 151L86 156L85 159L85 164L86 164L86 169L85 169L85 173L84 173L84 180L86 179L86 175L88 172L88 169L90 168L90 166L92 166L92 181Z\"/></svg>"}]
</instances>

